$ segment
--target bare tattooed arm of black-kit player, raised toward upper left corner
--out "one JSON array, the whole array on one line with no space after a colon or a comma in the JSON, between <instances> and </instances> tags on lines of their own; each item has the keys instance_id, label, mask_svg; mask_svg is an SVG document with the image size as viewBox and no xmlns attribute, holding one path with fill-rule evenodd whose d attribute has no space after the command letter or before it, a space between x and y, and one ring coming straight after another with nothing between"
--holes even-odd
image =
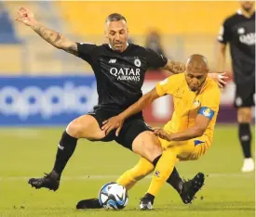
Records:
<instances>
[{"instance_id":1,"label":"bare tattooed arm of black-kit player, raised toward upper left corner","mask_svg":"<svg viewBox=\"0 0 256 217\"><path fill-rule=\"evenodd\" d=\"M16 20L31 27L34 32L39 34L50 45L53 45L59 49L65 50L66 52L77 56L77 45L75 42L67 39L59 32L48 29L42 23L38 22L34 18L34 14L28 9L20 7L17 13Z\"/></svg>"}]
</instances>

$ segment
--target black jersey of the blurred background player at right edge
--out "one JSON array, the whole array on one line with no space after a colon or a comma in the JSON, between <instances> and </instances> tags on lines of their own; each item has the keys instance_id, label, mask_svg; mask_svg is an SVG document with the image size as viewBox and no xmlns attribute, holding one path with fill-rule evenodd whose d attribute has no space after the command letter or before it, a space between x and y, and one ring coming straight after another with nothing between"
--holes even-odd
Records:
<instances>
[{"instance_id":1,"label":"black jersey of the blurred background player at right edge","mask_svg":"<svg viewBox=\"0 0 256 217\"><path fill-rule=\"evenodd\" d=\"M225 19L218 41L230 44L235 83L255 79L255 13L246 18L240 10Z\"/></svg>"}]
</instances>

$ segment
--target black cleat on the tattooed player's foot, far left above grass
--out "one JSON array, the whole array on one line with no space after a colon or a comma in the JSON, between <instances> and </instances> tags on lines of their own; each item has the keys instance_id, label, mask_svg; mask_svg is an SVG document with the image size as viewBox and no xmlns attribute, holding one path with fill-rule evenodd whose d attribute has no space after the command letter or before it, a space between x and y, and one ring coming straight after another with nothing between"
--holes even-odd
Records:
<instances>
[{"instance_id":1,"label":"black cleat on the tattooed player's foot, far left above grass","mask_svg":"<svg viewBox=\"0 0 256 217\"><path fill-rule=\"evenodd\" d=\"M49 190L56 191L60 185L60 176L56 172L50 172L49 174L45 173L46 175L42 178L31 178L29 179L29 184L36 189L41 187L46 187Z\"/></svg>"}]
</instances>

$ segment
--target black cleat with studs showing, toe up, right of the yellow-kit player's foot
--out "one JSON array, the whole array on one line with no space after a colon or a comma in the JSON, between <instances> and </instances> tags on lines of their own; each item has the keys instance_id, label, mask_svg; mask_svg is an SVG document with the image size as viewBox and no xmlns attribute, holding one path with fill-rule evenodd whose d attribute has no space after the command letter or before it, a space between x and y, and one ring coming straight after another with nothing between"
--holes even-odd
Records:
<instances>
[{"instance_id":1,"label":"black cleat with studs showing, toe up, right of the yellow-kit player's foot","mask_svg":"<svg viewBox=\"0 0 256 217\"><path fill-rule=\"evenodd\" d=\"M201 189L205 182L205 175L198 172L192 180L186 181L182 185L180 196L184 204L192 203L197 191Z\"/></svg>"}]
</instances>

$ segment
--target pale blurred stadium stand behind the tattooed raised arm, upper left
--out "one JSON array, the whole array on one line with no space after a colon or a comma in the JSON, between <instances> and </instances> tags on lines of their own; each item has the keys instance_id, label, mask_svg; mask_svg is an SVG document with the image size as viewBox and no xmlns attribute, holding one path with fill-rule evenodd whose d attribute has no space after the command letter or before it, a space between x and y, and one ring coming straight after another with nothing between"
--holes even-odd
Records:
<instances>
[{"instance_id":1,"label":"pale blurred stadium stand behind the tattooed raised arm, upper left","mask_svg":"<svg viewBox=\"0 0 256 217\"><path fill-rule=\"evenodd\" d=\"M13 48L13 44L3 46L3 49L7 50L11 57L14 54L15 57L17 56L20 59L16 58L14 60L10 59L10 56L6 56L7 59L0 64L0 73L47 75L90 71L88 66L86 68L83 64L77 64L78 58L47 45L32 30L25 28L14 20L17 9L20 6L25 6L32 10L35 17L42 23L59 32L66 32L63 28L65 23L59 19L58 10L54 11L50 2L22 2L22 4L20 2L5 2L3 6L7 8L10 26L13 27L22 44L15 46L15 48Z\"/></svg>"}]
</instances>

